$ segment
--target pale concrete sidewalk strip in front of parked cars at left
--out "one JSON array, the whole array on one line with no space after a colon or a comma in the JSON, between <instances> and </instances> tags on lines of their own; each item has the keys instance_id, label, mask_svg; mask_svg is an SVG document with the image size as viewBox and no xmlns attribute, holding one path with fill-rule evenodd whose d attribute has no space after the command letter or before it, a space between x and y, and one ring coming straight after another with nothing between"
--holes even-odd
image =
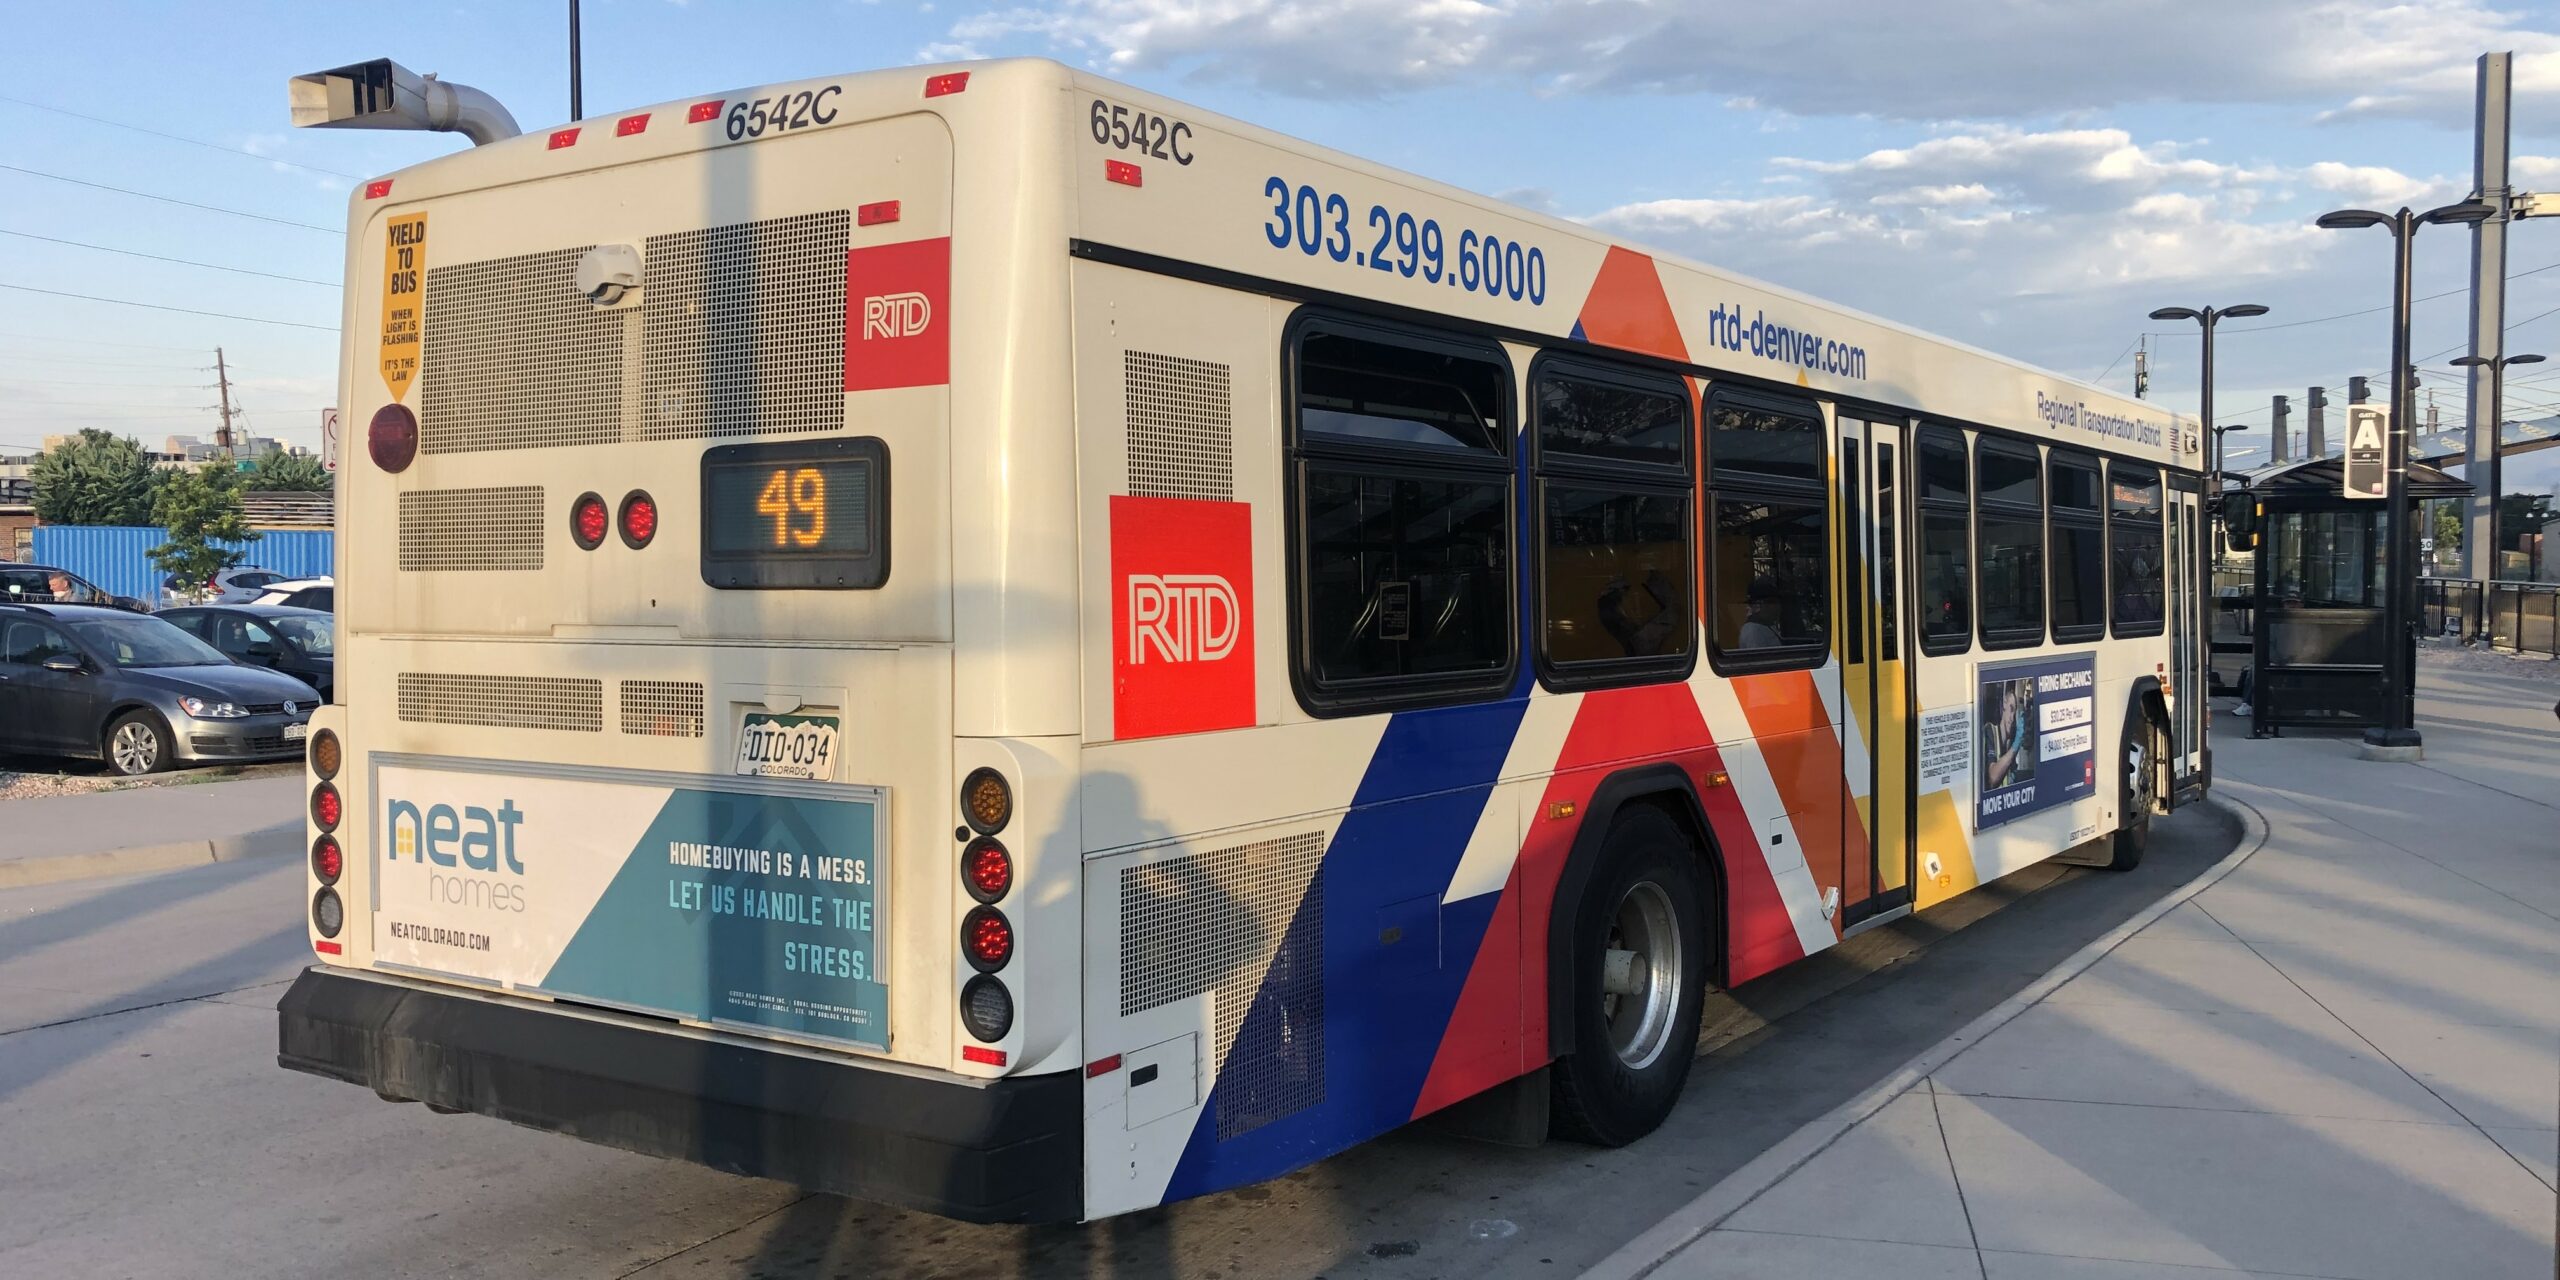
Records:
<instances>
[{"instance_id":1,"label":"pale concrete sidewalk strip in front of parked cars at left","mask_svg":"<svg viewBox=\"0 0 2560 1280\"><path fill-rule=\"evenodd\" d=\"M0 888L300 850L300 776L0 801Z\"/></svg>"}]
</instances>

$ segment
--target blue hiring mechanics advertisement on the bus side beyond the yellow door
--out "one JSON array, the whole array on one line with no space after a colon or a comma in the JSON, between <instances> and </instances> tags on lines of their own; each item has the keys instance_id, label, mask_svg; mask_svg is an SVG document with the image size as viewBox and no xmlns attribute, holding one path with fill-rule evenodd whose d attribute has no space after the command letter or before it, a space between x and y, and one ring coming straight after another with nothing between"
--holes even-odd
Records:
<instances>
[{"instance_id":1,"label":"blue hiring mechanics advertisement on the bus side beyond the yellow door","mask_svg":"<svg viewBox=\"0 0 2560 1280\"><path fill-rule=\"evenodd\" d=\"M1981 663L1976 681L1974 829L2097 791L2097 658Z\"/></svg>"}]
</instances>

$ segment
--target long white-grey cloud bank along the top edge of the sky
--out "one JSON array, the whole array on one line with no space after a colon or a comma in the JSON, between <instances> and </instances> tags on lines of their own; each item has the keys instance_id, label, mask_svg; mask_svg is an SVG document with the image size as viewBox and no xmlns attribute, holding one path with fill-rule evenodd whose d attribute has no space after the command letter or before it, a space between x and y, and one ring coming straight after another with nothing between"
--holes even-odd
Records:
<instances>
[{"instance_id":1,"label":"long white-grey cloud bank along the top edge of the sky","mask_svg":"<svg viewBox=\"0 0 2560 1280\"><path fill-rule=\"evenodd\" d=\"M2296 102L2460 123L2481 49L2516 51L2519 118L2560 97L2560 33L2491 0L1065 0L952 28L1014 36L1119 74L1316 97L1503 82L1900 120Z\"/></svg>"}]
</instances>

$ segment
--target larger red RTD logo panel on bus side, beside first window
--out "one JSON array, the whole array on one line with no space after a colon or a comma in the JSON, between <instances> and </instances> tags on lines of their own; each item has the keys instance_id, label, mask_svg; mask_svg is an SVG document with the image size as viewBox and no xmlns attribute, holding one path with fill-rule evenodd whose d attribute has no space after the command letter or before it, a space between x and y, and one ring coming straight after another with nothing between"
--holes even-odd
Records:
<instances>
[{"instance_id":1,"label":"larger red RTD logo panel on bus side, beside first window","mask_svg":"<svg viewBox=\"0 0 2560 1280\"><path fill-rule=\"evenodd\" d=\"M1254 722L1254 509L1111 499L1111 737Z\"/></svg>"}]
</instances>

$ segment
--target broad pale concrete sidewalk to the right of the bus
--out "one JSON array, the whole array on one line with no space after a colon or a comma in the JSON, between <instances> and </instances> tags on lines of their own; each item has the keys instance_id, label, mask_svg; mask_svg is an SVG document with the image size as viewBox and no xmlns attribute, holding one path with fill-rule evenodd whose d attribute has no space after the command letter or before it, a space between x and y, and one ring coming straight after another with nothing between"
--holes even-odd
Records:
<instances>
[{"instance_id":1,"label":"broad pale concrete sidewalk to the right of the bus","mask_svg":"<svg viewBox=\"0 0 2560 1280\"><path fill-rule=\"evenodd\" d=\"M1590 1275L2550 1277L2560 681L2419 689L2419 765L2217 717L2191 896Z\"/></svg>"}]
</instances>

